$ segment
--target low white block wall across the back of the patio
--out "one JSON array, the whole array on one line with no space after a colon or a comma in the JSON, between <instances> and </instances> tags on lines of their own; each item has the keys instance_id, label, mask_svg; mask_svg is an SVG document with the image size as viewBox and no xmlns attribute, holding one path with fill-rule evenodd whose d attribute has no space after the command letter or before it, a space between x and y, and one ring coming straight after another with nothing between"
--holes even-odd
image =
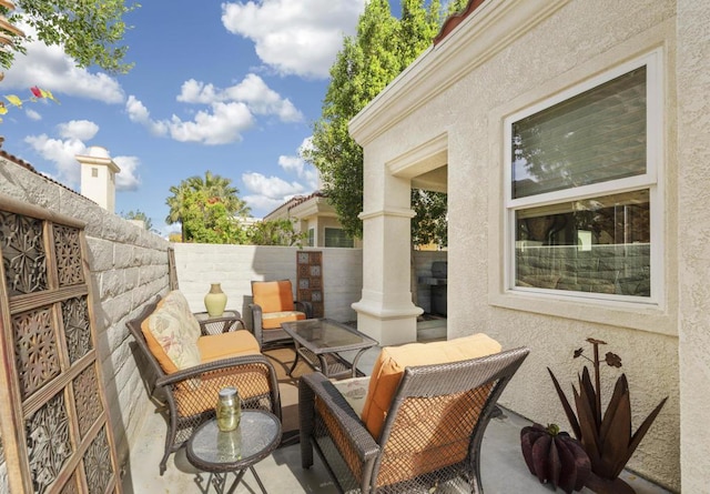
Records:
<instances>
[{"instance_id":1,"label":"low white block wall across the back of the patio","mask_svg":"<svg viewBox=\"0 0 710 494\"><path fill-rule=\"evenodd\" d=\"M189 243L179 243L174 248L180 291L194 312L205 310L204 295L210 283L221 283L227 295L227 308L240 311L251 327L252 280L288 279L296 286L297 248ZM362 251L336 248L304 250L323 252L325 316L353 321L355 312L351 304L357 301L363 286Z\"/></svg>"}]
</instances>

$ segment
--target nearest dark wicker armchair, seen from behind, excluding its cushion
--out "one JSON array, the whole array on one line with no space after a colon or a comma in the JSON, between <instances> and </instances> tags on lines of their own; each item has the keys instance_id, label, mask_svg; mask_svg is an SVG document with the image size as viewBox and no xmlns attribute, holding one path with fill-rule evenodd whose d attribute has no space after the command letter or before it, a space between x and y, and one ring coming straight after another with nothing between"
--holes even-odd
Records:
<instances>
[{"instance_id":1,"label":"nearest dark wicker armchair, seen from behind, excluding its cushion","mask_svg":"<svg viewBox=\"0 0 710 494\"><path fill-rule=\"evenodd\" d=\"M302 376L303 467L315 446L342 492L481 493L484 431L528 352L406 367L378 438L323 374Z\"/></svg>"}]
</instances>

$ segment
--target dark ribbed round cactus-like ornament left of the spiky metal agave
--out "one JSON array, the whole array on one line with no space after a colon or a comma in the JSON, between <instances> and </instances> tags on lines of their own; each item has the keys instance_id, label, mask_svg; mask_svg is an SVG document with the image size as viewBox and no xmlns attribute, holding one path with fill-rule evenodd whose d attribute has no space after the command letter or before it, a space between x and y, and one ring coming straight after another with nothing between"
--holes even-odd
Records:
<instances>
[{"instance_id":1,"label":"dark ribbed round cactus-like ornament left of the spiky metal agave","mask_svg":"<svg viewBox=\"0 0 710 494\"><path fill-rule=\"evenodd\" d=\"M580 491L591 473L589 456L579 441L560 432L557 424L523 427L520 446L530 473L567 494Z\"/></svg>"}]
</instances>

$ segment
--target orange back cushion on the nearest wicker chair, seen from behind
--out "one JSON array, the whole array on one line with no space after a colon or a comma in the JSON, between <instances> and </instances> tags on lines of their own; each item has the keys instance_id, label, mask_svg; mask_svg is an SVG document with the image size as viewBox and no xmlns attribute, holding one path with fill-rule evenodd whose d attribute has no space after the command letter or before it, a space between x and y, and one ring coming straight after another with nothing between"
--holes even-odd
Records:
<instances>
[{"instance_id":1,"label":"orange back cushion on the nearest wicker chair, seen from behind","mask_svg":"<svg viewBox=\"0 0 710 494\"><path fill-rule=\"evenodd\" d=\"M483 333L442 342L385 346L375 361L363 405L365 426L373 437L379 438L405 367L459 362L498 352L500 343Z\"/></svg>"}]
</instances>

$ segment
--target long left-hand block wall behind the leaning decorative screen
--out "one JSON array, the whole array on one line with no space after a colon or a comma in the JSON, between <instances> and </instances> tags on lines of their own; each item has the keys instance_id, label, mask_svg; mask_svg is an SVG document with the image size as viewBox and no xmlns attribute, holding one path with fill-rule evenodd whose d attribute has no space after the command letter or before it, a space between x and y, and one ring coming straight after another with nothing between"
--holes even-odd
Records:
<instances>
[{"instance_id":1,"label":"long left-hand block wall behind the leaning decorative screen","mask_svg":"<svg viewBox=\"0 0 710 494\"><path fill-rule=\"evenodd\" d=\"M87 223L97 351L119 463L128 467L129 445L154 406L148 402L125 322L155 294L166 292L170 243L2 157L0 193Z\"/></svg>"}]
</instances>

